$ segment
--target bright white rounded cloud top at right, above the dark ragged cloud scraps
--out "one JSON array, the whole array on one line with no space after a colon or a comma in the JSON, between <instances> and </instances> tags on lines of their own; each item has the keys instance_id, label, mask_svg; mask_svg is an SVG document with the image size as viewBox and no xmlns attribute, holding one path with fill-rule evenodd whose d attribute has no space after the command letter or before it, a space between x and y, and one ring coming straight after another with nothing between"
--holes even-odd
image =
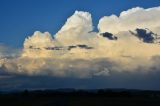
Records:
<instances>
[{"instance_id":1,"label":"bright white rounded cloud top at right, above the dark ragged cloud scraps","mask_svg":"<svg viewBox=\"0 0 160 106\"><path fill-rule=\"evenodd\" d=\"M98 29L100 32L118 33L120 31L135 30L136 28L149 28L154 30L160 27L160 7L143 9L132 8L121 12L120 16L104 16L100 19ZM157 30L158 34L159 31Z\"/></svg>"}]
</instances>

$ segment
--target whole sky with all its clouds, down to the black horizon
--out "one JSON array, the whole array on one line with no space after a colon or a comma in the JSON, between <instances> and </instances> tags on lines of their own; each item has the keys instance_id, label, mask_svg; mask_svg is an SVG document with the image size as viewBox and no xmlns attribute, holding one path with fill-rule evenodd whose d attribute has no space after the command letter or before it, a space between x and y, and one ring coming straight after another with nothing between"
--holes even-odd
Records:
<instances>
[{"instance_id":1,"label":"whole sky with all its clouds, down to the black horizon","mask_svg":"<svg viewBox=\"0 0 160 106\"><path fill-rule=\"evenodd\" d=\"M0 90L160 90L159 0L0 0Z\"/></svg>"}]
</instances>

